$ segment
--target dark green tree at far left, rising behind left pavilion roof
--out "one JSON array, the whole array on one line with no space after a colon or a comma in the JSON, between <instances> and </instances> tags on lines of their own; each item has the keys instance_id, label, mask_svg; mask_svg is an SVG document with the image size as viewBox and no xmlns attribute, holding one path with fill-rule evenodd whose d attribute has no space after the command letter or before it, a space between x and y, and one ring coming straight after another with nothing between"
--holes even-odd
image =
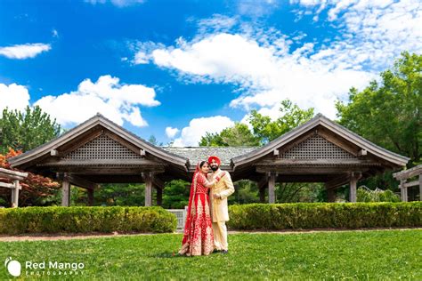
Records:
<instances>
[{"instance_id":1,"label":"dark green tree at far left, rising behind left pavilion roof","mask_svg":"<svg viewBox=\"0 0 422 281\"><path fill-rule=\"evenodd\" d=\"M27 107L24 112L4 108L0 118L0 153L37 148L60 133L61 126L37 106Z\"/></svg>"}]
</instances>

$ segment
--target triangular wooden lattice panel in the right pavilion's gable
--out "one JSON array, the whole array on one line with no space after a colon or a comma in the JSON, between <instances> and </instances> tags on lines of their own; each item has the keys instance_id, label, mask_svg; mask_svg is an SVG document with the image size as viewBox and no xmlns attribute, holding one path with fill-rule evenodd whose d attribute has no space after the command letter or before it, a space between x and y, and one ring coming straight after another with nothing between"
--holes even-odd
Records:
<instances>
[{"instance_id":1,"label":"triangular wooden lattice panel in the right pavilion's gable","mask_svg":"<svg viewBox=\"0 0 422 281\"><path fill-rule=\"evenodd\" d=\"M350 159L354 156L337 147L332 142L327 141L320 135L312 136L296 145L295 147L288 149L281 155L282 158L287 159Z\"/></svg>"}]
</instances>

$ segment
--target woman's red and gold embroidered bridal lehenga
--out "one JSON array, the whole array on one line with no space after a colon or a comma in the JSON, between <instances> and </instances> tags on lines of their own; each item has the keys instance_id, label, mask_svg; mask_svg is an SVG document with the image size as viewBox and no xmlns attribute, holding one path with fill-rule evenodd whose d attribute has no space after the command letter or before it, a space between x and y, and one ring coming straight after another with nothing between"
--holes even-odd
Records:
<instances>
[{"instance_id":1,"label":"woman's red and gold embroidered bridal lehenga","mask_svg":"<svg viewBox=\"0 0 422 281\"><path fill-rule=\"evenodd\" d=\"M199 166L193 174L188 213L184 225L180 254L208 255L214 251L213 227L209 208L207 181Z\"/></svg>"}]
</instances>

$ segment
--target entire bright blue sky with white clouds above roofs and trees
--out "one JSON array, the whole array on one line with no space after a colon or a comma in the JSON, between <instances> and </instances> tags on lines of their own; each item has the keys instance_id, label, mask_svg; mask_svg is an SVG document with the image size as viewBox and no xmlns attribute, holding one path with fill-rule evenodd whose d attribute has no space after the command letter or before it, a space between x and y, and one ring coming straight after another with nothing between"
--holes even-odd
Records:
<instances>
[{"instance_id":1,"label":"entire bright blue sky with white clouds above roofs and trees","mask_svg":"<svg viewBox=\"0 0 422 281\"><path fill-rule=\"evenodd\" d=\"M65 128L101 112L175 146L284 99L335 118L350 87L422 49L413 0L3 0L0 19L0 109Z\"/></svg>"}]
</instances>

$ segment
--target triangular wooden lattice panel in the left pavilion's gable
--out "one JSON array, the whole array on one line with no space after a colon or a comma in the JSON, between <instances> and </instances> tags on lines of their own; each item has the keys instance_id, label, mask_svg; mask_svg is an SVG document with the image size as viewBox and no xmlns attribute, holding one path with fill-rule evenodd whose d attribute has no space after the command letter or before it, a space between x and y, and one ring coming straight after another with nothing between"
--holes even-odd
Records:
<instances>
[{"instance_id":1,"label":"triangular wooden lattice panel in the left pavilion's gable","mask_svg":"<svg viewBox=\"0 0 422 281\"><path fill-rule=\"evenodd\" d=\"M141 159L140 155L127 149L118 141L110 139L105 134L101 134L93 141L87 142L82 147L70 152L66 159L71 160L105 160L105 159Z\"/></svg>"}]
</instances>

